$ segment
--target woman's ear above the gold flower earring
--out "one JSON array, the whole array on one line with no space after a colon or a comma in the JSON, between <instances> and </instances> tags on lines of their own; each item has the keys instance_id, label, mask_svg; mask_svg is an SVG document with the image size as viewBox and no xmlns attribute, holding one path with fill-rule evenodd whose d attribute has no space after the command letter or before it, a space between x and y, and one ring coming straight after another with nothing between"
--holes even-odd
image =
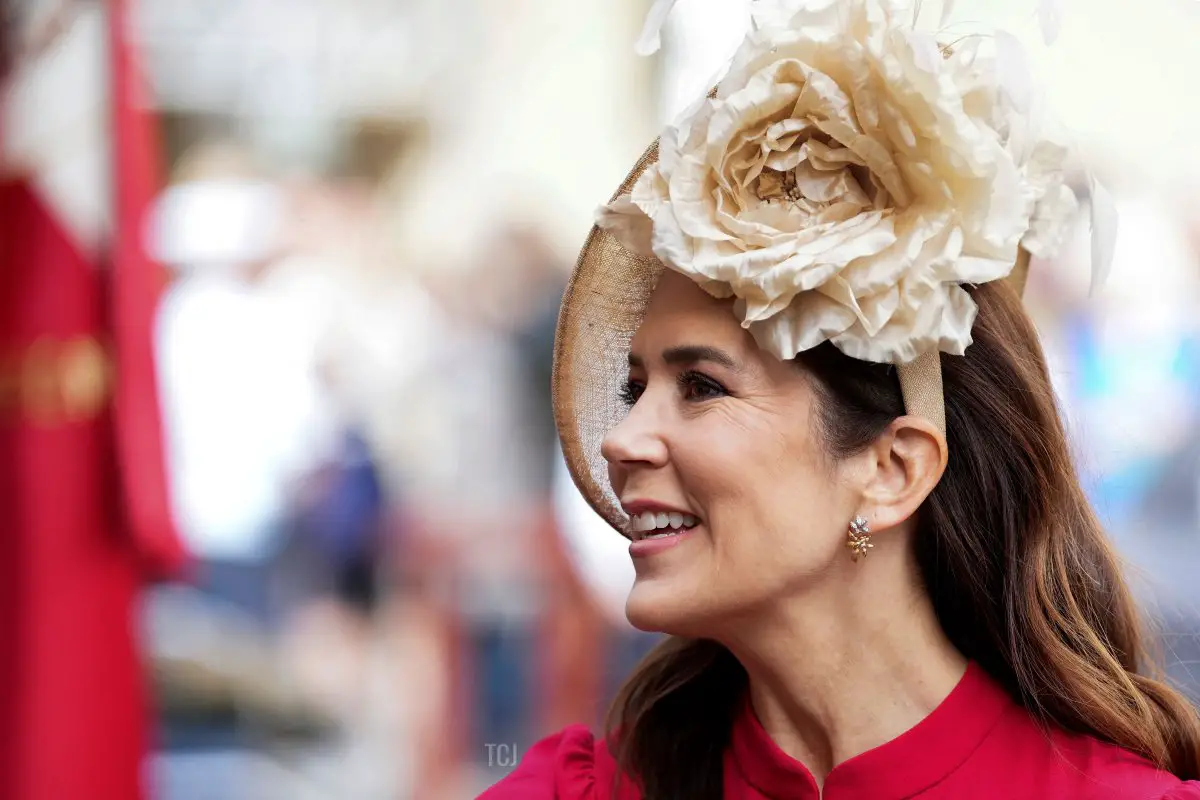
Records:
<instances>
[{"instance_id":1,"label":"woman's ear above the gold flower earring","mask_svg":"<svg viewBox=\"0 0 1200 800\"><path fill-rule=\"evenodd\" d=\"M869 447L874 470L863 489L863 516L876 531L911 517L946 471L946 437L919 416L892 421Z\"/></svg>"}]
</instances>

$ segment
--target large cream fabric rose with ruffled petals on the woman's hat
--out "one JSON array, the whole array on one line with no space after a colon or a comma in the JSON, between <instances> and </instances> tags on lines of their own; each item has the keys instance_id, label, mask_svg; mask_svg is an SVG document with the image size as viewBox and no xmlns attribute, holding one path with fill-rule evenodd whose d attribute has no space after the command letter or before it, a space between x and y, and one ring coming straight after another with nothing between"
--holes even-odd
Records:
<instances>
[{"instance_id":1,"label":"large cream fabric rose with ruffled petals on the woman's hat","mask_svg":"<svg viewBox=\"0 0 1200 800\"><path fill-rule=\"evenodd\" d=\"M1024 242L1052 252L1066 148L1018 109L979 40L950 55L898 0L755 5L715 95L598 224L736 312L781 359L829 339L905 363L961 355Z\"/></svg>"}]
</instances>

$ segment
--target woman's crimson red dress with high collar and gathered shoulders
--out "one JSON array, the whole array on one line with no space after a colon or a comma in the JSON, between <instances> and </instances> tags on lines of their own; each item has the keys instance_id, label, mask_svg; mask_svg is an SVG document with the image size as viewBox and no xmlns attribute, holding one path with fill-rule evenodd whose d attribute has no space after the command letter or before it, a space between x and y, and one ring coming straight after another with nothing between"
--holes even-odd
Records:
<instances>
[{"instance_id":1,"label":"woman's crimson red dress with high collar and gathered shoulders","mask_svg":"<svg viewBox=\"0 0 1200 800\"><path fill-rule=\"evenodd\" d=\"M534 745L479 800L608 800L616 763L582 726ZM619 800L638 800L622 781ZM749 703L725 752L727 800L1200 800L1180 781L1091 736L1049 738L977 664L934 712L833 769L824 792L763 730Z\"/></svg>"}]
</instances>

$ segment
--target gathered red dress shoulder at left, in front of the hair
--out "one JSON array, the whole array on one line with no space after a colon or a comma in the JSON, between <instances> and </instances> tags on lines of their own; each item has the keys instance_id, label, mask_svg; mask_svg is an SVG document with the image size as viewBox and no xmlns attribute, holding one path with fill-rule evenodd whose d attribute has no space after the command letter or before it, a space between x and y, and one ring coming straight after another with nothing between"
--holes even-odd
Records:
<instances>
[{"instance_id":1,"label":"gathered red dress shoulder at left, in front of the hair","mask_svg":"<svg viewBox=\"0 0 1200 800\"><path fill-rule=\"evenodd\" d=\"M604 740L583 726L569 726L530 747L479 800L608 800L616 775ZM624 782L618 798L638 800Z\"/></svg>"}]
</instances>

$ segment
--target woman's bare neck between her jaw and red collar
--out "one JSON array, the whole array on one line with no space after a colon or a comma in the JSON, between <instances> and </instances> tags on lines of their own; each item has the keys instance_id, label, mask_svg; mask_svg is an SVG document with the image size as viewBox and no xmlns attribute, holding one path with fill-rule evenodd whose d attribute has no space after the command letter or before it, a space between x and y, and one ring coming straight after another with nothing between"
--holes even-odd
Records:
<instances>
[{"instance_id":1,"label":"woman's bare neck between her jaw and red collar","mask_svg":"<svg viewBox=\"0 0 1200 800\"><path fill-rule=\"evenodd\" d=\"M749 674L763 728L818 784L929 716L966 670L916 565L853 566L840 585L805 591L721 637Z\"/></svg>"}]
</instances>

